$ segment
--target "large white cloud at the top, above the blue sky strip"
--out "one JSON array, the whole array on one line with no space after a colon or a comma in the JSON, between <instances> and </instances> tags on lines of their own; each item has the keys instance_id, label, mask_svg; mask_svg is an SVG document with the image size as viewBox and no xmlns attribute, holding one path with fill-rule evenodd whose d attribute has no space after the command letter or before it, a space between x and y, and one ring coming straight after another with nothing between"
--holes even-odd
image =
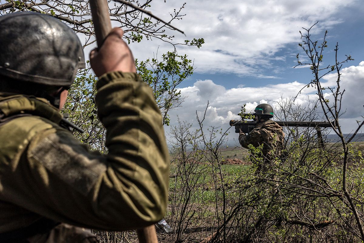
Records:
<instances>
[{"instance_id":1,"label":"large white cloud at the top, above the blue sky strip","mask_svg":"<svg viewBox=\"0 0 364 243\"><path fill-rule=\"evenodd\" d=\"M319 21L312 30L322 32L343 21L340 10L348 5L359 4L356 0L218 0L153 1L151 11L168 20L173 9L182 9L182 20L175 21L176 27L186 32L187 37L173 32L174 43L185 39L204 38L200 49L186 46L177 47L194 59L196 72L213 74L216 72L238 75L254 75L265 78L260 73L262 66L269 67L272 60L285 60L274 56L288 43L300 41L298 31ZM164 53L171 45L164 42L135 44L132 48L139 59L153 56L153 52ZM134 45L132 45L134 47ZM258 72L257 72L258 71ZM276 78L273 75L266 78Z\"/></svg>"}]
</instances>

